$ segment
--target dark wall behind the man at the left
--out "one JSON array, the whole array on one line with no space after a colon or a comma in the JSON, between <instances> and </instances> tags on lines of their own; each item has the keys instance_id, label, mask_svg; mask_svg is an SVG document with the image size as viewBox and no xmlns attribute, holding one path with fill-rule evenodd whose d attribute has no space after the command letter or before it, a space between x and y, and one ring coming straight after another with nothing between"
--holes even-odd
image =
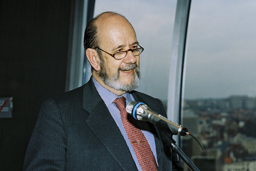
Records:
<instances>
[{"instance_id":1,"label":"dark wall behind the man at the left","mask_svg":"<svg viewBox=\"0 0 256 171\"><path fill-rule=\"evenodd\" d=\"M40 104L65 91L73 5L69 0L0 5L0 97L13 97L13 118L0 119L0 170L15 171L22 170Z\"/></svg>"}]
</instances>

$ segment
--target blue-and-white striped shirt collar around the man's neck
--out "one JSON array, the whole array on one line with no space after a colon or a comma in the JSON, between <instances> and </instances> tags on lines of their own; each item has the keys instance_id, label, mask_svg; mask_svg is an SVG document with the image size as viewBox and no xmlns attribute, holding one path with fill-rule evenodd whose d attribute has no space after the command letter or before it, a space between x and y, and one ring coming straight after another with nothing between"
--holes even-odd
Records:
<instances>
[{"instance_id":1,"label":"blue-and-white striped shirt collar around the man's neck","mask_svg":"<svg viewBox=\"0 0 256 171\"><path fill-rule=\"evenodd\" d=\"M113 103L113 101L118 98L118 97L125 97L126 102L129 103L130 101L132 101L132 95L129 92L126 92L125 94L121 95L121 96L117 96L115 94L113 94L112 92L110 92L109 90L107 90L106 88L104 88L94 77L92 77L92 81L101 97L101 99L104 101L104 103L106 104L106 106L108 107L111 103Z\"/></svg>"}]
</instances>

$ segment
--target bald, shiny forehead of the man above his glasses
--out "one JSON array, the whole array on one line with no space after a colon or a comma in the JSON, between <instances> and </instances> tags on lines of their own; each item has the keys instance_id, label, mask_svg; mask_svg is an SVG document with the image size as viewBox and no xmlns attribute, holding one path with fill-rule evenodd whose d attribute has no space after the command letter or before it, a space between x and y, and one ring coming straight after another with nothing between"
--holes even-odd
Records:
<instances>
[{"instance_id":1,"label":"bald, shiny forehead of the man above his glasses","mask_svg":"<svg viewBox=\"0 0 256 171\"><path fill-rule=\"evenodd\" d=\"M137 41L133 26L120 15L102 17L97 23L97 34L102 48L129 46Z\"/></svg>"}]
</instances>

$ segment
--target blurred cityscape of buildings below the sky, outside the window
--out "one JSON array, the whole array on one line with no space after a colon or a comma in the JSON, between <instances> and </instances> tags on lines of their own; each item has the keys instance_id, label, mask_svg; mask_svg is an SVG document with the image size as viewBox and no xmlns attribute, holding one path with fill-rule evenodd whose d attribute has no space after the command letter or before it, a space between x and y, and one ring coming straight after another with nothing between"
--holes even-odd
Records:
<instances>
[{"instance_id":1,"label":"blurred cityscape of buildings below the sky, outside the window","mask_svg":"<svg viewBox=\"0 0 256 171\"><path fill-rule=\"evenodd\" d=\"M181 139L184 153L200 171L256 170L256 98L184 100ZM183 163L184 171L190 169Z\"/></svg>"}]
</instances>

